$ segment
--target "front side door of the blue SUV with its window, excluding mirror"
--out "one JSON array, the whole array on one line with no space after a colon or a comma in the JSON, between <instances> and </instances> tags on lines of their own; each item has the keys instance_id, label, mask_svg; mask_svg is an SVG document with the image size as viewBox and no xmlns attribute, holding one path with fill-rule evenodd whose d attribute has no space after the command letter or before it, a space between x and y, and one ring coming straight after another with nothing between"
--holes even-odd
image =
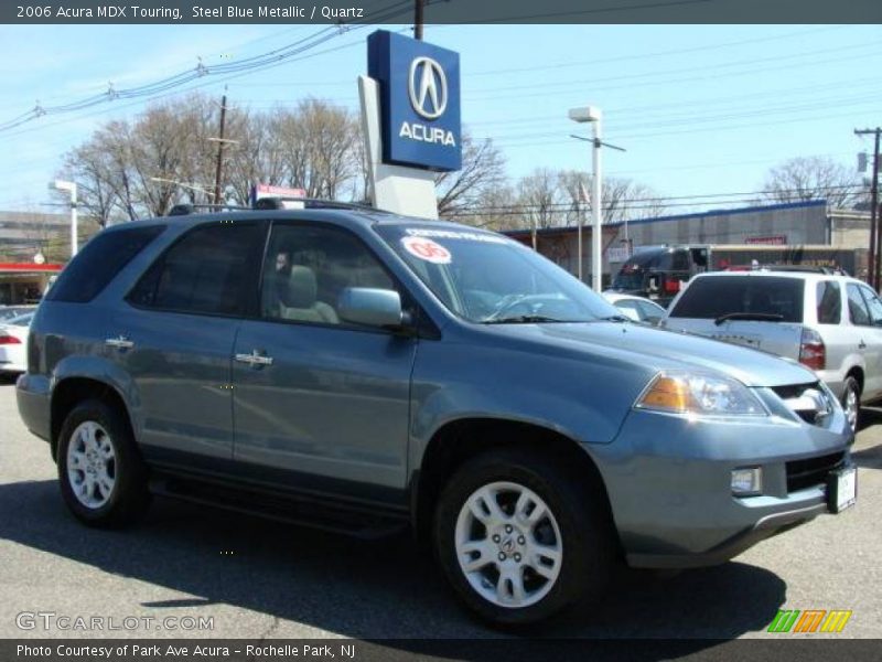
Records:
<instances>
[{"instance_id":1,"label":"front side door of the blue SUV with its window, excluding mirror","mask_svg":"<svg viewBox=\"0 0 882 662\"><path fill-rule=\"evenodd\" d=\"M275 223L263 265L259 316L234 351L239 468L287 487L400 495L417 341L336 314L346 288L395 282L354 234L315 223Z\"/></svg>"}]
</instances>

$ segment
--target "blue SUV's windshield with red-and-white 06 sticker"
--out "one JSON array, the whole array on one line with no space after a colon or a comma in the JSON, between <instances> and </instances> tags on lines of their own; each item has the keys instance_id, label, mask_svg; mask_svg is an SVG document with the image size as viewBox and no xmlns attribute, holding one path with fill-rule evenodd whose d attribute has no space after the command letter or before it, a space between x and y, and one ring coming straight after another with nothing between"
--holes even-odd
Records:
<instances>
[{"instance_id":1,"label":"blue SUV's windshield with red-and-white 06 sticker","mask_svg":"<svg viewBox=\"0 0 882 662\"><path fill-rule=\"evenodd\" d=\"M622 314L526 246L482 231L380 226L377 232L451 311L482 323L594 322Z\"/></svg>"}]
</instances>

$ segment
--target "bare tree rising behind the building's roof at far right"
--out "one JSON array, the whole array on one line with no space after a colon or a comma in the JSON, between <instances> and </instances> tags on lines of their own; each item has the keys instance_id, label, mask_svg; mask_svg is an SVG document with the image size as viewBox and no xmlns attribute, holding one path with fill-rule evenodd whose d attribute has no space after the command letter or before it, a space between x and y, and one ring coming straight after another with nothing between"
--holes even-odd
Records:
<instances>
[{"instance_id":1,"label":"bare tree rising behind the building's roof at far right","mask_svg":"<svg viewBox=\"0 0 882 662\"><path fill-rule=\"evenodd\" d=\"M797 157L768 171L761 200L826 200L832 207L850 207L865 196L860 178L846 166L829 157Z\"/></svg>"}]
</instances>

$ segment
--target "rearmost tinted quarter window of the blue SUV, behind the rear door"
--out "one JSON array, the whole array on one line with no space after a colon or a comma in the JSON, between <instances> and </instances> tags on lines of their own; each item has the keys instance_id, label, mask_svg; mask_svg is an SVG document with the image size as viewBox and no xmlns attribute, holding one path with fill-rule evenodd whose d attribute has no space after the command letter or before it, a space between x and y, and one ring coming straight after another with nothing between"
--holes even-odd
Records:
<instances>
[{"instance_id":1,"label":"rearmost tinted quarter window of the blue SUV, behind the rear door","mask_svg":"<svg viewBox=\"0 0 882 662\"><path fill-rule=\"evenodd\" d=\"M163 229L164 225L150 225L99 233L65 267L46 299L72 303L92 301Z\"/></svg>"}]
</instances>

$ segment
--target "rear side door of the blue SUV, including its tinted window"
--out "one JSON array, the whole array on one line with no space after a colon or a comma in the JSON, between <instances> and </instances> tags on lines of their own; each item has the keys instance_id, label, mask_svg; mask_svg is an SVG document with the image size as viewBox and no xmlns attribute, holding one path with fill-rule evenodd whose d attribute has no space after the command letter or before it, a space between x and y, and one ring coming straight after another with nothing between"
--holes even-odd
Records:
<instances>
[{"instance_id":1,"label":"rear side door of the blue SUV, including its tinted window","mask_svg":"<svg viewBox=\"0 0 882 662\"><path fill-rule=\"evenodd\" d=\"M265 236L257 223L197 226L114 313L107 351L131 375L139 439L154 461L196 468L232 459L233 343L257 289Z\"/></svg>"}]
</instances>

